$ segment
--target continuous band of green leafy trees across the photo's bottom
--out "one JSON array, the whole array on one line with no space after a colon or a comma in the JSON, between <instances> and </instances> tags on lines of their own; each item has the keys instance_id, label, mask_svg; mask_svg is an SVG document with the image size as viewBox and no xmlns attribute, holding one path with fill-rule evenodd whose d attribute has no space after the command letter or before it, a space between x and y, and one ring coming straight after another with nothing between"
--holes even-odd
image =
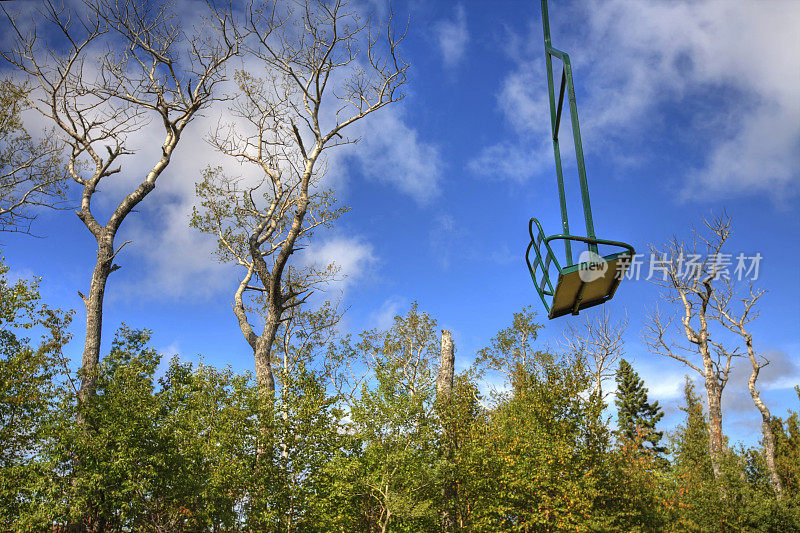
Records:
<instances>
[{"instance_id":1,"label":"continuous band of green leafy trees across the photo's bottom","mask_svg":"<svg viewBox=\"0 0 800 533\"><path fill-rule=\"evenodd\" d=\"M78 412L61 356L70 315L44 306L35 282L0 286L4 529L438 532L446 509L475 532L800 531L796 413L774 420L782 501L758 447L729 450L714 479L688 381L670 456L641 431L613 443L584 361L537 349L530 310L446 403L436 321L416 304L357 342L329 344L315 327L324 310L285 326L268 405L250 374L162 365L150 332L123 325ZM326 364L311 367L326 343ZM481 376L509 387L487 397ZM619 381L622 428L653 429L660 410L625 362Z\"/></svg>"}]
</instances>

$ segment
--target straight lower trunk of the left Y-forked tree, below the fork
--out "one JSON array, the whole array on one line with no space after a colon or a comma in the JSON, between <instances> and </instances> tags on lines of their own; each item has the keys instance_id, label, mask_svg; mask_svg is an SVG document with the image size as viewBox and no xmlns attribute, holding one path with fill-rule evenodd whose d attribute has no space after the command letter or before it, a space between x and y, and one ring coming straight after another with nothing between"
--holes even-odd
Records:
<instances>
[{"instance_id":1,"label":"straight lower trunk of the left Y-forked tree, below the fork","mask_svg":"<svg viewBox=\"0 0 800 533\"><path fill-rule=\"evenodd\" d=\"M94 393L97 367L100 363L100 342L103 329L103 298L108 276L114 269L114 237L103 232L97 237L97 261L89 284L89 295L81 294L86 306L86 337L81 360L81 387L78 404L84 404ZM80 294L80 293L79 293Z\"/></svg>"}]
</instances>

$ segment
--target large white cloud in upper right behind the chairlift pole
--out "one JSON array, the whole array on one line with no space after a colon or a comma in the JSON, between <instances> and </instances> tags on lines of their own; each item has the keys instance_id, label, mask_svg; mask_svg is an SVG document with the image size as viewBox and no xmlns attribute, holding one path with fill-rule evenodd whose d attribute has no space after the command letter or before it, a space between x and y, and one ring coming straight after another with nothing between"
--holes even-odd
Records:
<instances>
[{"instance_id":1,"label":"large white cloud in upper right behind the chairlift pole","mask_svg":"<svg viewBox=\"0 0 800 533\"><path fill-rule=\"evenodd\" d=\"M551 25L554 45L571 52L587 150L624 152L620 141L664 119L661 106L685 103L715 109L685 126L708 154L683 184L685 196L759 192L778 198L796 186L800 3L596 0L577 9L551 10ZM576 16L585 29L569 33L565 21ZM517 66L498 94L525 150L531 139L546 139L549 129L540 25L537 16L527 41L512 39ZM693 107L698 102L703 105ZM533 151L544 155L548 145ZM497 161L499 173L519 179L501 157L492 159L502 156L500 150L490 150L477 160L483 166Z\"/></svg>"}]
</instances>

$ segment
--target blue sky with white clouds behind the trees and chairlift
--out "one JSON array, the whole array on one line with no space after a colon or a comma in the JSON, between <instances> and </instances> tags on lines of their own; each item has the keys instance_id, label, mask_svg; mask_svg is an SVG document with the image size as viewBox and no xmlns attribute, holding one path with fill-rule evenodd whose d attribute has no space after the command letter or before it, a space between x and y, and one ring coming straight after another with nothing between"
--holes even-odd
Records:
<instances>
[{"instance_id":1,"label":"blue sky with white clouds behind the trees and chairlift","mask_svg":"<svg viewBox=\"0 0 800 533\"><path fill-rule=\"evenodd\" d=\"M343 332L386 327L417 300L453 331L464 368L512 313L540 307L523 257L528 219L550 233L559 228L539 6L393 7L411 21L408 96L359 126L358 145L330 156L331 183L352 211L319 232L307 254L347 274L330 289L349 306ZM757 285L769 292L753 331L773 364L762 392L774 414L798 410L791 386L800 383L800 4L551 2L550 15L554 45L573 60L598 236L644 251L725 210L734 223L729 252L764 258ZM168 356L253 367L231 312L238 273L216 263L213 242L188 227L193 183L220 162L203 141L220 113L209 110L190 126L155 192L123 226L120 239L133 242L109 281L106 346L124 321L152 328ZM572 156L564 150L565 161ZM146 165L147 150L137 157ZM574 166L565 171L577 229ZM121 176L104 192L124 189ZM43 238L0 236L2 253L12 275L44 278L51 305L78 311L69 347L78 360L77 291L88 286L94 241L71 212L41 213L35 230ZM642 342L657 297L652 284L626 281L608 307L630 319L626 357L667 407L668 427L678 420L687 370ZM543 320L542 346L556 347L577 319ZM726 390L726 431L754 443L759 417L744 388L747 362L739 364Z\"/></svg>"}]
</instances>

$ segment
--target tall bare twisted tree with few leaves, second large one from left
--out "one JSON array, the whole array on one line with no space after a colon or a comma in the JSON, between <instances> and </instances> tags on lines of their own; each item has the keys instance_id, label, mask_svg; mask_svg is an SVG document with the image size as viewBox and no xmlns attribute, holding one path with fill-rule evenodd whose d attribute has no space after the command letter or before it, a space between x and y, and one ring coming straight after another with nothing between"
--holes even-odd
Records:
<instances>
[{"instance_id":1,"label":"tall bare twisted tree with few leaves, second large one from left","mask_svg":"<svg viewBox=\"0 0 800 533\"><path fill-rule=\"evenodd\" d=\"M234 313L253 350L262 393L274 398L272 350L285 314L306 303L335 275L333 266L292 264L313 231L346 209L325 188L323 152L355 142L345 130L403 95L408 65L391 18L374 34L344 0L277 1L251 7L248 53L263 68L237 73L231 109L237 124L220 124L210 142L259 174L255 184L209 170L198 184L201 209L192 225L216 235L220 258L245 273ZM264 326L254 331L249 295L265 302Z\"/></svg>"}]
</instances>

